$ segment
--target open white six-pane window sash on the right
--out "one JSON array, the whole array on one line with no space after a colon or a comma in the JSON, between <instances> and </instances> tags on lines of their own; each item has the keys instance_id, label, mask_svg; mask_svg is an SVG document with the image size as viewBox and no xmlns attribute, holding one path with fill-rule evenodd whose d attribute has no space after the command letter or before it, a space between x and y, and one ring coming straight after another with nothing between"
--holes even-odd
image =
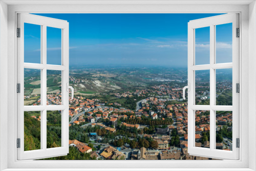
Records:
<instances>
[{"instance_id":1,"label":"open white six-pane window sash on the right","mask_svg":"<svg viewBox=\"0 0 256 171\"><path fill-rule=\"evenodd\" d=\"M216 26L232 23L232 62L216 63ZM196 65L195 49L197 28L209 27L210 30L210 63L209 65ZM239 138L239 93L236 92L236 84L239 83L239 14L223 14L213 17L191 20L188 23L188 153L193 156L201 156L215 159L239 159L239 148L236 139ZM241 36L241 35L240 35ZM216 105L216 69L232 68L232 105ZM195 73L199 70L209 70L210 73L210 104L196 105ZM196 145L196 113L195 111L210 112L210 143L209 147L197 147ZM230 150L216 148L216 111L232 111L232 141ZM198 138L198 137L197 137ZM241 140L240 140L241 142Z\"/></svg>"}]
</instances>

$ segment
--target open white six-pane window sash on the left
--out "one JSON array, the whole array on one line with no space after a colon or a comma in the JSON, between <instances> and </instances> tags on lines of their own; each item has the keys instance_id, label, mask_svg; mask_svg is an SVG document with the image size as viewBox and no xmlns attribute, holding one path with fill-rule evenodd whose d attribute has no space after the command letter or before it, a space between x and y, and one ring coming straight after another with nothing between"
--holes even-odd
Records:
<instances>
[{"instance_id":1,"label":"open white six-pane window sash on the left","mask_svg":"<svg viewBox=\"0 0 256 171\"><path fill-rule=\"evenodd\" d=\"M24 62L24 24L40 26L40 63ZM47 64L47 27L61 29L61 65ZM34 160L64 156L69 153L69 23L66 20L17 14L17 160ZM24 105L24 69L40 70L40 105ZM47 105L47 70L61 72L61 104ZM24 112L40 113L40 148L24 149ZM61 146L47 148L47 111L59 111L61 117Z\"/></svg>"}]
</instances>

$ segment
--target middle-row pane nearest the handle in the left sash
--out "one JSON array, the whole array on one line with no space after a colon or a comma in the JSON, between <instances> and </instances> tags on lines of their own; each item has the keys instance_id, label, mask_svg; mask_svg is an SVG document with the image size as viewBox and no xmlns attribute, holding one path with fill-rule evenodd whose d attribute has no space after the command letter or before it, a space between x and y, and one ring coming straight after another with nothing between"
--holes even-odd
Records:
<instances>
[{"instance_id":1,"label":"middle-row pane nearest the handle in the left sash","mask_svg":"<svg viewBox=\"0 0 256 171\"><path fill-rule=\"evenodd\" d=\"M61 105L61 71L47 70L47 105Z\"/></svg>"}]
</instances>

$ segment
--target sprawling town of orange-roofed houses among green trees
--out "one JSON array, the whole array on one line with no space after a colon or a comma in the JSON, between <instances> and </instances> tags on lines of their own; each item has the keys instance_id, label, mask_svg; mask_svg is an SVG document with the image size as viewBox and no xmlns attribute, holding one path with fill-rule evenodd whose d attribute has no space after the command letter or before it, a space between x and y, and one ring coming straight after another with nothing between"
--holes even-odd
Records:
<instances>
[{"instance_id":1,"label":"sprawling town of orange-roofed houses among green trees","mask_svg":"<svg viewBox=\"0 0 256 171\"><path fill-rule=\"evenodd\" d=\"M70 80L82 82L74 76ZM188 111L187 101L182 99L183 82L176 81L174 86L170 80L159 80L152 86L95 95L85 95L74 87L76 95L69 109L70 148L97 160L213 160L187 153ZM221 97L232 86L220 81L218 88ZM197 104L208 103L209 83L196 84L195 98ZM47 99L48 104L59 105L61 92L48 93ZM37 97L31 105L39 104ZM209 148L209 111L195 111L195 117L195 144ZM232 112L217 111L216 124L216 148L232 151Z\"/></svg>"}]
</instances>

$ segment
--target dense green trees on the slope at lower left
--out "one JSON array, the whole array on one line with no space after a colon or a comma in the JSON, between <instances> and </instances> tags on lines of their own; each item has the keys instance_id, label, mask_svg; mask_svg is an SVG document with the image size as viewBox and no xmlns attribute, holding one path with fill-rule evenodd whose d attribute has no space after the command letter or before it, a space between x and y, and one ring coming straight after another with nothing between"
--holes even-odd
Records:
<instances>
[{"instance_id":1,"label":"dense green trees on the slope at lower left","mask_svg":"<svg viewBox=\"0 0 256 171\"><path fill-rule=\"evenodd\" d=\"M31 116L35 116L31 117ZM24 151L40 149L40 112L24 112ZM71 126L70 138L88 142L88 136L82 134L83 129ZM61 113L47 111L47 148L61 146ZM67 156L52 157L42 160L93 160L90 154L80 153L76 147L69 147Z\"/></svg>"}]
</instances>

